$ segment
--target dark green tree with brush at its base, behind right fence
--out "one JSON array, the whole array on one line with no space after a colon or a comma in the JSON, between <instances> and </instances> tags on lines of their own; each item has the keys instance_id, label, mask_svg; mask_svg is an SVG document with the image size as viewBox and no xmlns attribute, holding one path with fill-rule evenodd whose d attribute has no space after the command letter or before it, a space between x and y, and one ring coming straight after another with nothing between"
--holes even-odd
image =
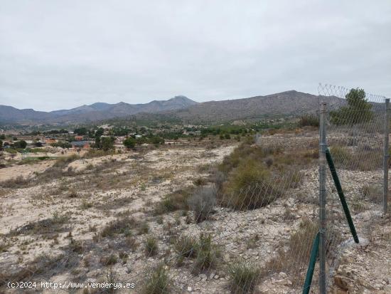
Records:
<instances>
[{"instance_id":1,"label":"dark green tree with brush at its base, behind right fence","mask_svg":"<svg viewBox=\"0 0 391 294\"><path fill-rule=\"evenodd\" d=\"M372 105L365 98L363 89L351 89L345 96L348 105L330 112L334 125L354 125L373 119Z\"/></svg>"}]
</instances>

